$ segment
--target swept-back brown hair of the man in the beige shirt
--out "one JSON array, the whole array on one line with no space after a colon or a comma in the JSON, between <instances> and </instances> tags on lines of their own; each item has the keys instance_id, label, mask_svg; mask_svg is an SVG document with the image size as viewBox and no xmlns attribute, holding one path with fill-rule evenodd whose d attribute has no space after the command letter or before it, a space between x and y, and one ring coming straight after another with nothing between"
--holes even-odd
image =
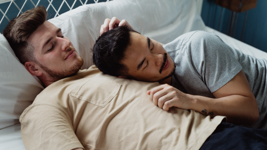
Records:
<instances>
[{"instance_id":1,"label":"swept-back brown hair of the man in the beige shirt","mask_svg":"<svg viewBox=\"0 0 267 150\"><path fill-rule=\"evenodd\" d=\"M27 40L30 35L46 21L47 12L44 6L27 10L11 20L3 30L3 35L9 42L14 53L22 64L28 61L36 62L34 47Z\"/></svg>"}]
</instances>

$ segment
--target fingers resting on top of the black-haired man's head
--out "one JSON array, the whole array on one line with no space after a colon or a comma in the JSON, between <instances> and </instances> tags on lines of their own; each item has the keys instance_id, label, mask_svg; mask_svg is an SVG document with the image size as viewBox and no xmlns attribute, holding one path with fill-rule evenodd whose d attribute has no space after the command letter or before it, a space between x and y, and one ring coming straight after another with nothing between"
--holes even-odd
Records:
<instances>
[{"instance_id":1,"label":"fingers resting on top of the black-haired man's head","mask_svg":"<svg viewBox=\"0 0 267 150\"><path fill-rule=\"evenodd\" d=\"M112 30L112 29L114 29L115 27L118 27L118 26L128 26L128 27L131 27L131 25L126 20L124 20L124 19L120 21L116 17L112 17L112 19L106 18L104 24L101 25L100 35L102 35L104 32L107 32L109 30Z\"/></svg>"}]
</instances>

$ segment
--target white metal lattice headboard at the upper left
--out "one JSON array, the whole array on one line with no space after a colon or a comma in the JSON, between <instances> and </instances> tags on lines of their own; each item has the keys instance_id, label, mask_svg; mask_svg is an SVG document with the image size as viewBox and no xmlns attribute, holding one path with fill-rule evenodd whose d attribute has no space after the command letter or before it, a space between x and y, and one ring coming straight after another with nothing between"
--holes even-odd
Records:
<instances>
[{"instance_id":1,"label":"white metal lattice headboard at the upper left","mask_svg":"<svg viewBox=\"0 0 267 150\"><path fill-rule=\"evenodd\" d=\"M2 17L2 19L1 19L1 21L0 21L0 24L2 23L4 17L6 17L6 18L8 19L8 21L10 22L10 19L6 16L6 14L7 14L7 12L8 12L8 10L9 10L9 8L10 8L10 6L11 6L12 3L15 4L15 6L18 8L18 10L19 10L18 15L19 15L19 14L23 13L23 12L22 12L22 9L24 8L24 6L25 6L25 4L26 4L26 2L27 2L28 0L25 0L25 2L23 3L23 6L22 6L21 8L18 7L18 5L16 4L16 2L15 2L14 0L9 0L9 1L11 1L11 2L10 2L10 4L9 4L7 10L5 11L5 13L4 13L4 12L1 10L1 8L0 8L0 11L1 11L1 12L3 13L3 15L4 15L4 16ZM39 2L40 2L41 0L38 0L37 4L34 4L34 2L33 2L32 0L30 0L30 1L32 2L32 4L33 4L34 7L37 7L37 6L39 5ZM54 17L57 17L57 16L59 16L59 11L60 11L60 9L62 8L62 6L63 6L64 3L67 4L67 6L69 7L69 10L72 10L72 8L74 7L75 3L76 3L78 0L74 0L72 6L70 6L66 0L63 0L58 10L56 10L56 9L54 8L54 6L53 6L53 4L52 4L53 0L51 0L51 1L50 1L50 0L47 0L47 1L49 2L49 5L48 5L48 7L46 8L46 11L48 11L48 9L49 9L50 6L51 6L51 7L54 9L54 11L56 12L56 14L55 14ZM83 3L81 0L79 0L79 1L81 2L82 5L85 5L85 4L87 4L87 2L88 2L88 0L86 0L84 3ZM95 3L97 3L99 0L94 0L94 1L95 1ZM107 2L108 2L108 1L110 1L110 0L107 0ZM2 0L2 1L0 1L0 3L3 3L3 2L8 2L8 1L7 1L7 0ZM18 17L18 15L17 15L17 17ZM1 33L0 33L0 34L1 34Z\"/></svg>"}]
</instances>

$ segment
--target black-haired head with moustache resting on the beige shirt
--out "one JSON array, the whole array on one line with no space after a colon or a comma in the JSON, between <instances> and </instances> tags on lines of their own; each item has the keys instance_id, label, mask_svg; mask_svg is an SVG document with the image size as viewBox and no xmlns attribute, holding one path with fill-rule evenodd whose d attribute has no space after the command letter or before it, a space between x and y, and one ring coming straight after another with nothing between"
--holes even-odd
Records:
<instances>
[{"instance_id":1,"label":"black-haired head with moustache resting on the beige shirt","mask_svg":"<svg viewBox=\"0 0 267 150\"><path fill-rule=\"evenodd\" d=\"M100 71L119 78L160 82L172 76L175 64L162 45L130 27L103 33L92 49Z\"/></svg>"}]
</instances>

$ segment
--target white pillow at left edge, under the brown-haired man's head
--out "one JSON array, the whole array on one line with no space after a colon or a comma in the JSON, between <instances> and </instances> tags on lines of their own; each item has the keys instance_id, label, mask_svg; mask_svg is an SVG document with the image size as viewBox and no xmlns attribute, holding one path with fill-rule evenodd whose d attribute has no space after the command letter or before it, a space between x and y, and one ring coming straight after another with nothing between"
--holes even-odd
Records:
<instances>
[{"instance_id":1,"label":"white pillow at left edge, under the brown-haired man's head","mask_svg":"<svg viewBox=\"0 0 267 150\"><path fill-rule=\"evenodd\" d=\"M2 129L18 124L21 113L32 104L44 87L19 62L3 35L0 35L0 53L0 129Z\"/></svg>"}]
</instances>

